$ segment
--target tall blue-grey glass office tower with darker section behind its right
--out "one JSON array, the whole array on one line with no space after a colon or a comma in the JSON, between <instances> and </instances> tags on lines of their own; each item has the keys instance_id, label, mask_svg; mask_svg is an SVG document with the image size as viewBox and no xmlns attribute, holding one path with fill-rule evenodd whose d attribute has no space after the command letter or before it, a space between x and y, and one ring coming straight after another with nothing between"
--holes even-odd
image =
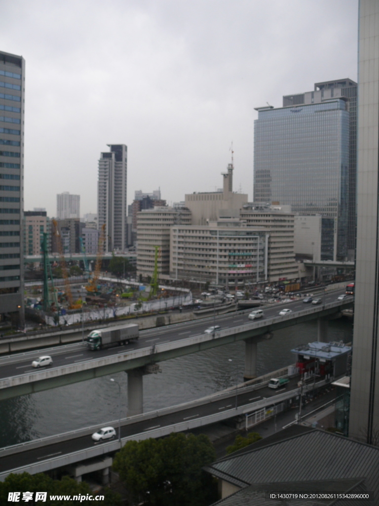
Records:
<instances>
[{"instance_id":1,"label":"tall blue-grey glass office tower with darker section behind its right","mask_svg":"<svg viewBox=\"0 0 379 506\"><path fill-rule=\"evenodd\" d=\"M335 81L328 81L328 83ZM257 108L254 201L290 204L295 213L335 219L334 259L348 256L350 106L346 89L316 83L314 92L283 97L283 107Z\"/></svg>"}]
</instances>

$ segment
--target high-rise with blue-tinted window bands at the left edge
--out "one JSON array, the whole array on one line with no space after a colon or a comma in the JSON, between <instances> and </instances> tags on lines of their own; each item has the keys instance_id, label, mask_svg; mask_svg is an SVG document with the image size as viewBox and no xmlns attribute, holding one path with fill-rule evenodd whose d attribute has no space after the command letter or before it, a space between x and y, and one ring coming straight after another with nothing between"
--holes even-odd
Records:
<instances>
[{"instance_id":1,"label":"high-rise with blue-tinted window bands at the left edge","mask_svg":"<svg viewBox=\"0 0 379 506\"><path fill-rule=\"evenodd\" d=\"M25 60L0 52L0 320L19 313L23 298Z\"/></svg>"}]
</instances>

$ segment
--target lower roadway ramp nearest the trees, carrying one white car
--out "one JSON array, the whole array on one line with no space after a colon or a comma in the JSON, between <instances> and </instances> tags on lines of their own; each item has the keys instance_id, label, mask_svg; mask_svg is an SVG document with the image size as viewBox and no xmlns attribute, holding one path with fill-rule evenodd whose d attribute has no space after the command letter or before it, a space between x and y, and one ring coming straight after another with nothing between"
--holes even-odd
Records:
<instances>
[{"instance_id":1,"label":"lower roadway ramp nearest the trees, carrying one white car","mask_svg":"<svg viewBox=\"0 0 379 506\"><path fill-rule=\"evenodd\" d=\"M269 415L266 413L267 407L285 407L290 400L299 396L298 378L291 379L287 388L272 390L267 387L270 377L286 372L284 369L275 371L257 378L254 384L248 386L240 385L183 405L124 418L120 424L121 441L94 443L90 435L99 429L99 426L94 426L0 449L0 480L4 480L11 472L35 474L62 467L70 467L72 474L81 479L79 473L88 473L95 462L100 466L99 469L109 466L109 460L104 458L129 440L162 437L171 432L191 430L252 412L258 412L262 420L266 414ZM331 378L327 382L322 380L311 387L318 388L330 381ZM117 428L118 424L119 420L112 420L104 426ZM75 468L78 462L81 465Z\"/></svg>"}]
</instances>

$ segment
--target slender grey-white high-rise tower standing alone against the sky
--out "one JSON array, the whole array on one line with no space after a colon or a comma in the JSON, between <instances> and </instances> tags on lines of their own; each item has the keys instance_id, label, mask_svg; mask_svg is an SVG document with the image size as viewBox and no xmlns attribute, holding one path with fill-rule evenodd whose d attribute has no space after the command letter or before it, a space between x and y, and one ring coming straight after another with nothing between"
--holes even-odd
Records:
<instances>
[{"instance_id":1,"label":"slender grey-white high-rise tower standing alone against the sky","mask_svg":"<svg viewBox=\"0 0 379 506\"><path fill-rule=\"evenodd\" d=\"M98 181L98 226L105 225L105 251L126 247L127 147L107 144L110 152L101 153Z\"/></svg>"}]
</instances>

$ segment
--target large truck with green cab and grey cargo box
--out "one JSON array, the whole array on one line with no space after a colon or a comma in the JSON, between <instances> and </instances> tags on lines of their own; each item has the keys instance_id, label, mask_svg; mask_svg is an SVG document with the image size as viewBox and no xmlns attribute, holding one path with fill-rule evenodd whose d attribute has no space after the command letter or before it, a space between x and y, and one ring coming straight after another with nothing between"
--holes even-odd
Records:
<instances>
[{"instance_id":1,"label":"large truck with green cab and grey cargo box","mask_svg":"<svg viewBox=\"0 0 379 506\"><path fill-rule=\"evenodd\" d=\"M135 323L99 328L88 334L87 346L90 350L101 350L102 348L121 346L130 343L130 341L137 341L138 336L139 329Z\"/></svg>"}]
</instances>

